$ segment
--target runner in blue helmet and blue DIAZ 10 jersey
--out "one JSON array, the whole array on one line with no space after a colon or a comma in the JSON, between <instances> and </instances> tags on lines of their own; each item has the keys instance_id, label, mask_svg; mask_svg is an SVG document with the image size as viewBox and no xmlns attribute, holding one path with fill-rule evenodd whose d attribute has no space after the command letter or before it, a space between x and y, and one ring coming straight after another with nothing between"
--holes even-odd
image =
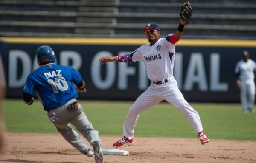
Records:
<instances>
[{"instance_id":1,"label":"runner in blue helmet and blue DIAZ 10 jersey","mask_svg":"<svg viewBox=\"0 0 256 163\"><path fill-rule=\"evenodd\" d=\"M44 110L48 112L49 122L55 125L65 140L81 153L88 157L93 156L89 146L72 129L72 124L93 146L96 163L102 163L103 153L99 132L93 128L84 114L83 107L76 100L77 92L86 92L81 75L72 67L55 64L54 51L48 45L39 47L36 57L40 67L27 77L23 100L31 105L35 91Z\"/></svg>"}]
</instances>

